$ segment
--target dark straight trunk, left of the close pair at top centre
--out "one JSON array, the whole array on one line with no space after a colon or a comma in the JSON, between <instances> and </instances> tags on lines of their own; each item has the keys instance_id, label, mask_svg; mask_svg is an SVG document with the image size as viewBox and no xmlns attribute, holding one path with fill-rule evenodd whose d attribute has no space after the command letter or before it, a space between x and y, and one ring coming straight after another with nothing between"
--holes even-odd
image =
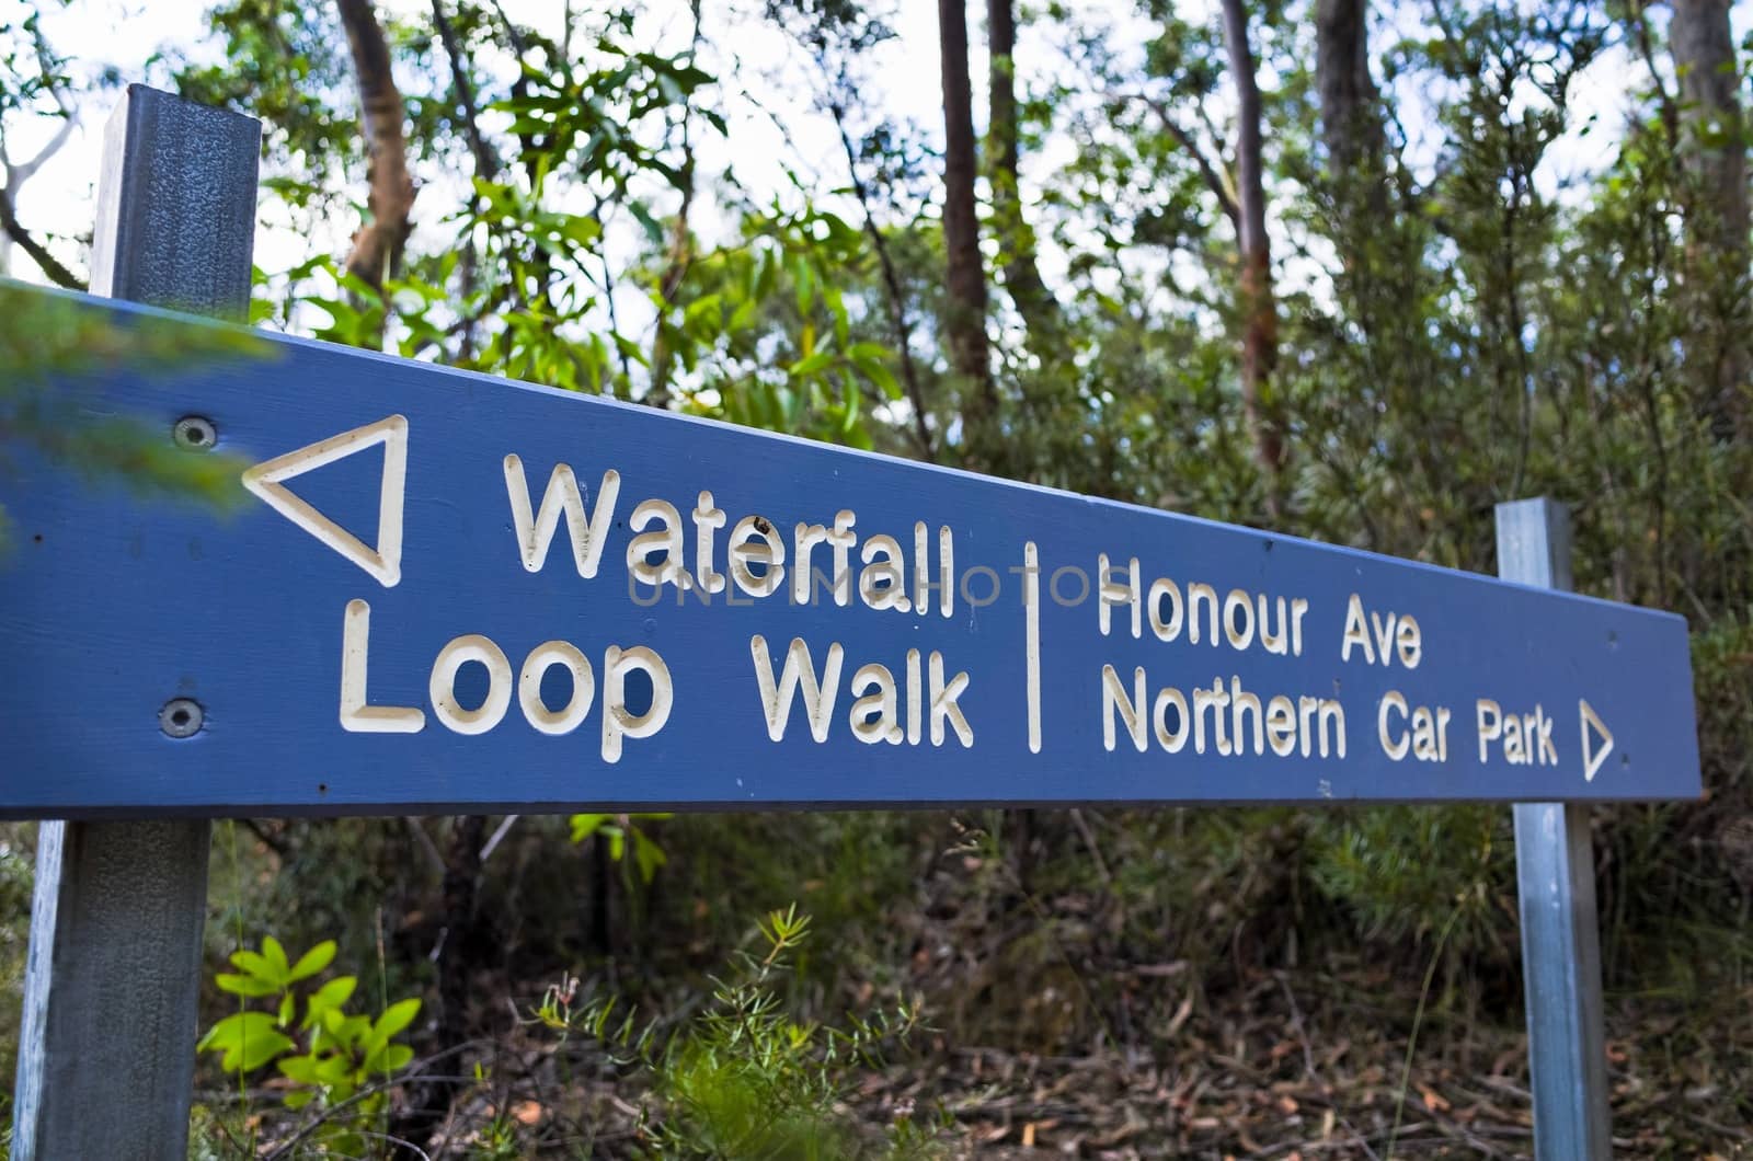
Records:
<instances>
[{"instance_id":1,"label":"dark straight trunk, left of the close pair at top centre","mask_svg":"<svg viewBox=\"0 0 1753 1161\"><path fill-rule=\"evenodd\" d=\"M985 265L980 260L980 219L975 210L973 82L968 77L966 0L938 0L938 42L943 51L943 331L950 365L966 381L964 445L968 467L992 472L992 426L997 391L985 333Z\"/></svg>"}]
</instances>

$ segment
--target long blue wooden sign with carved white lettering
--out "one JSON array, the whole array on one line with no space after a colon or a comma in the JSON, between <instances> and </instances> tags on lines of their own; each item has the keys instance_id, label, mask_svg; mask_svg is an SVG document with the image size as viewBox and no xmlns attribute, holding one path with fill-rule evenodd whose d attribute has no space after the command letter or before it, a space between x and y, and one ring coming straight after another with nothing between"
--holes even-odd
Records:
<instances>
[{"instance_id":1,"label":"long blue wooden sign with carved white lettering","mask_svg":"<svg viewBox=\"0 0 1753 1161\"><path fill-rule=\"evenodd\" d=\"M1700 791L1671 614L261 345L65 386L240 514L0 477L0 814Z\"/></svg>"}]
</instances>

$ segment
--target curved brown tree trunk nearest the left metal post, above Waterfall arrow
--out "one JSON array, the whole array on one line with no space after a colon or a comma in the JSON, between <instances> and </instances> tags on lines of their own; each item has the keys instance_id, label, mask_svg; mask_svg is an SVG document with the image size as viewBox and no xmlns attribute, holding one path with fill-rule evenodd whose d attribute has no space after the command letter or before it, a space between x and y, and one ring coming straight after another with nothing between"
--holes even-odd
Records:
<instances>
[{"instance_id":1,"label":"curved brown tree trunk nearest the left metal post, above Waterfall arrow","mask_svg":"<svg viewBox=\"0 0 1753 1161\"><path fill-rule=\"evenodd\" d=\"M370 286L382 286L401 267L414 210L414 177L408 174L408 142L403 135L407 107L389 68L389 44L370 0L335 0L347 30L352 70L359 79L359 114L365 126L366 221L352 235L347 272Z\"/></svg>"}]
</instances>

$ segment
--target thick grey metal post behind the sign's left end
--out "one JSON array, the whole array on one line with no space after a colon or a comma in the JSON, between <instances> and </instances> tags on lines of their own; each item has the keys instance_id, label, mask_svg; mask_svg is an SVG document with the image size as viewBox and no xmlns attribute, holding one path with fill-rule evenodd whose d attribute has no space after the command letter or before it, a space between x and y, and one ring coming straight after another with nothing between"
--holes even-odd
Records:
<instances>
[{"instance_id":1,"label":"thick grey metal post behind the sign's left end","mask_svg":"<svg viewBox=\"0 0 1753 1161\"><path fill-rule=\"evenodd\" d=\"M130 86L103 137L91 289L242 317L259 153L252 118ZM210 830L42 823L14 1161L186 1157Z\"/></svg>"}]
</instances>

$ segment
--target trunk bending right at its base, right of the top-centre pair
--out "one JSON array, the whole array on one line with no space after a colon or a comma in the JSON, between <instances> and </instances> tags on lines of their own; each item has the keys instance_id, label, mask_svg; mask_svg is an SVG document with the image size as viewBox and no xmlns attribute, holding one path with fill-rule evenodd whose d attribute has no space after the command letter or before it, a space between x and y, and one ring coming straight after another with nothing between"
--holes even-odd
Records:
<instances>
[{"instance_id":1,"label":"trunk bending right at its base, right of the top-centre pair","mask_svg":"<svg viewBox=\"0 0 1753 1161\"><path fill-rule=\"evenodd\" d=\"M1017 11L1015 0L987 0L990 49L987 177L992 182L992 226L997 231L1004 286L1036 347L1055 345L1059 302L1034 263L1034 231L1022 212L1017 168L1022 156L1017 130Z\"/></svg>"}]
</instances>

